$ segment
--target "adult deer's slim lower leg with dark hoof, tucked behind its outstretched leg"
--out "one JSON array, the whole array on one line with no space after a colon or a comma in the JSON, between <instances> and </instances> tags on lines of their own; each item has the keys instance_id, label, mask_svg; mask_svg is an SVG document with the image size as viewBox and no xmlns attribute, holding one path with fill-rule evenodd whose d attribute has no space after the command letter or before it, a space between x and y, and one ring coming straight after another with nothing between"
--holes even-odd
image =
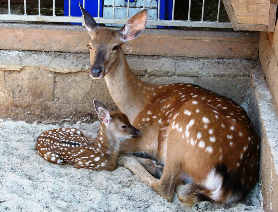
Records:
<instances>
[{"instance_id":1,"label":"adult deer's slim lower leg with dark hoof, tucked behind its outstretched leg","mask_svg":"<svg viewBox=\"0 0 278 212\"><path fill-rule=\"evenodd\" d=\"M135 158L136 160L141 163L141 165L153 176L157 178L161 178L162 173L163 173L163 166L164 164L162 162L158 162L155 160L151 160L148 158L140 158L131 154L121 154L121 156L126 156L126 157L132 157Z\"/></svg>"}]
</instances>

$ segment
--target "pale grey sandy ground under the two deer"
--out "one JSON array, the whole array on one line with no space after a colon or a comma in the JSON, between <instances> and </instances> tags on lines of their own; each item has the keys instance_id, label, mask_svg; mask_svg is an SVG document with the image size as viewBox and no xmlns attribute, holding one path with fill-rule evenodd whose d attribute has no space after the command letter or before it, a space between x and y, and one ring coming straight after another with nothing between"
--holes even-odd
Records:
<instances>
[{"instance_id":1,"label":"pale grey sandy ground under the two deer","mask_svg":"<svg viewBox=\"0 0 278 212\"><path fill-rule=\"evenodd\" d=\"M73 124L88 136L96 136L98 126ZM188 209L176 195L167 202L123 167L97 172L51 164L35 141L59 127L0 119L0 211L261 211L258 185L237 204L201 202Z\"/></svg>"}]
</instances>

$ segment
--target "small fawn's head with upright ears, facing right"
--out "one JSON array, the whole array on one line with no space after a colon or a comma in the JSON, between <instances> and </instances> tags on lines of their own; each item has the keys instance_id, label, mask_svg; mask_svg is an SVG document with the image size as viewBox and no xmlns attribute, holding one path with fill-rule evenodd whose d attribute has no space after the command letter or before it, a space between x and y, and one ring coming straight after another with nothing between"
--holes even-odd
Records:
<instances>
[{"instance_id":1,"label":"small fawn's head with upright ears, facing right","mask_svg":"<svg viewBox=\"0 0 278 212\"><path fill-rule=\"evenodd\" d=\"M128 117L122 112L109 112L105 105L96 99L94 105L100 122L104 123L106 129L115 137L137 138L140 135L140 131L130 124Z\"/></svg>"}]
</instances>

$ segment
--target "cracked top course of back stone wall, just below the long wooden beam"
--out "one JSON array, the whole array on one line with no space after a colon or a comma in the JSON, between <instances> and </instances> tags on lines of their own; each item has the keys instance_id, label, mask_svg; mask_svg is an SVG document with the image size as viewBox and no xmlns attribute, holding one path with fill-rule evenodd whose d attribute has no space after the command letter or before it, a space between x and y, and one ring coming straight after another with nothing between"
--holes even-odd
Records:
<instances>
[{"instance_id":1,"label":"cracked top course of back stone wall, just below the long wooden beam","mask_svg":"<svg viewBox=\"0 0 278 212\"><path fill-rule=\"evenodd\" d=\"M156 61L153 63L152 61ZM189 76L189 77L248 77L250 67L243 63L237 70L232 67L242 60L203 59L163 56L127 56L128 64L136 75ZM64 52L0 51L0 70L20 71L26 68L56 73L86 71L91 66L89 54Z\"/></svg>"}]
</instances>

